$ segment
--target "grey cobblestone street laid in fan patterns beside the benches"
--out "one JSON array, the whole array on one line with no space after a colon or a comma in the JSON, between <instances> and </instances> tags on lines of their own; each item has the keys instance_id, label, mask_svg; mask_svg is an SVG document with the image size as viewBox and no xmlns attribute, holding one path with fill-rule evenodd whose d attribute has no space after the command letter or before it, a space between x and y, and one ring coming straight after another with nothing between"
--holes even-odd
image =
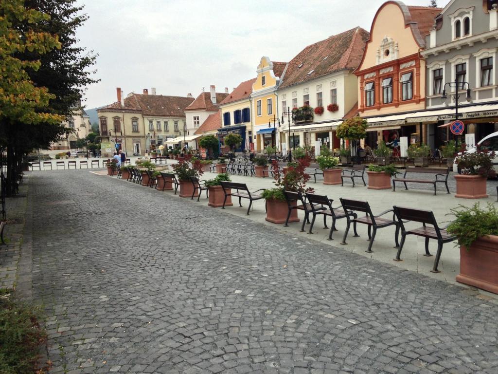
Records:
<instances>
[{"instance_id":1,"label":"grey cobblestone street laid in fan patterns beside the benches","mask_svg":"<svg viewBox=\"0 0 498 374\"><path fill-rule=\"evenodd\" d=\"M498 305L86 171L33 173L51 373L497 373Z\"/></svg>"}]
</instances>

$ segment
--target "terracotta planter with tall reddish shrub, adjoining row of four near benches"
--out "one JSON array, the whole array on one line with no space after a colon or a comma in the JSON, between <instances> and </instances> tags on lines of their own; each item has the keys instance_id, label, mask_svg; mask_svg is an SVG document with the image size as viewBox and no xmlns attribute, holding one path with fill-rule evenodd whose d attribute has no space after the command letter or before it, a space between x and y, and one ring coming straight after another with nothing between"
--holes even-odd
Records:
<instances>
[{"instance_id":1,"label":"terracotta planter with tall reddish shrub, adjoining row of four near benches","mask_svg":"<svg viewBox=\"0 0 498 374\"><path fill-rule=\"evenodd\" d=\"M294 191L294 192L313 192L313 188L306 187L306 182L308 182L310 176L305 173L305 169L310 165L310 158L305 157L298 159L298 166L296 168L289 167L287 174L282 177L278 173L278 163L276 160L272 162L273 178L275 180L275 188L265 189L261 196L266 200L266 220L272 223L285 223L288 214L288 205L285 201L284 190ZM293 201L292 205L296 205L297 202ZM291 215L289 217L289 222L299 222L299 217L297 216L297 209L292 209Z\"/></svg>"}]
</instances>

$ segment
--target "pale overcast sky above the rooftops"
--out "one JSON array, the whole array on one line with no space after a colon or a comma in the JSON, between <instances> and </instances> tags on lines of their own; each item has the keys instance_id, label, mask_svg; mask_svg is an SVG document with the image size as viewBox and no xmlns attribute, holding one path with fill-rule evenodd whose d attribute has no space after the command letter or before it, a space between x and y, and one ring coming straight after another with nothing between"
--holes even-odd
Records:
<instances>
[{"instance_id":1,"label":"pale overcast sky above the rooftops","mask_svg":"<svg viewBox=\"0 0 498 374\"><path fill-rule=\"evenodd\" d=\"M155 87L196 97L230 91L255 76L261 56L289 61L306 45L361 26L370 31L383 0L81 0L90 19L81 44L99 53L87 108ZM428 5L410 0L408 5ZM448 0L438 0L444 6Z\"/></svg>"}]
</instances>

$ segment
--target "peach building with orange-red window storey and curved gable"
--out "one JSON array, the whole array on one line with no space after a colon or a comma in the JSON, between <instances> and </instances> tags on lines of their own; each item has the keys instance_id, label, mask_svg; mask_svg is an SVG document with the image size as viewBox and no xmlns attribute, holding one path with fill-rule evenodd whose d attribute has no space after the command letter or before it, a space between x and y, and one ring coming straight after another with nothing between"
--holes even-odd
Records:
<instances>
[{"instance_id":1,"label":"peach building with orange-red window storey and curved gable","mask_svg":"<svg viewBox=\"0 0 498 374\"><path fill-rule=\"evenodd\" d=\"M358 76L358 111L369 122L366 142L398 145L400 137L420 142L426 131L403 113L425 109L425 45L441 8L386 1L377 10ZM420 125L420 126L419 126Z\"/></svg>"}]
</instances>

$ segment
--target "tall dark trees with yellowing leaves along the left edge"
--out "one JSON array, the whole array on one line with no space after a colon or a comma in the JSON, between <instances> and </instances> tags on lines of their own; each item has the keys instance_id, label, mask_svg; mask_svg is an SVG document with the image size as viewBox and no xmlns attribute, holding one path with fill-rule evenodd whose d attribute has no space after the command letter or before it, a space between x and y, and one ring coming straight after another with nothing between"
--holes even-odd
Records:
<instances>
[{"instance_id":1,"label":"tall dark trees with yellowing leaves along the left edge","mask_svg":"<svg viewBox=\"0 0 498 374\"><path fill-rule=\"evenodd\" d=\"M97 55L77 46L86 20L76 0L0 1L0 151L6 192L15 193L22 158L71 132L85 86L97 82Z\"/></svg>"}]
</instances>

